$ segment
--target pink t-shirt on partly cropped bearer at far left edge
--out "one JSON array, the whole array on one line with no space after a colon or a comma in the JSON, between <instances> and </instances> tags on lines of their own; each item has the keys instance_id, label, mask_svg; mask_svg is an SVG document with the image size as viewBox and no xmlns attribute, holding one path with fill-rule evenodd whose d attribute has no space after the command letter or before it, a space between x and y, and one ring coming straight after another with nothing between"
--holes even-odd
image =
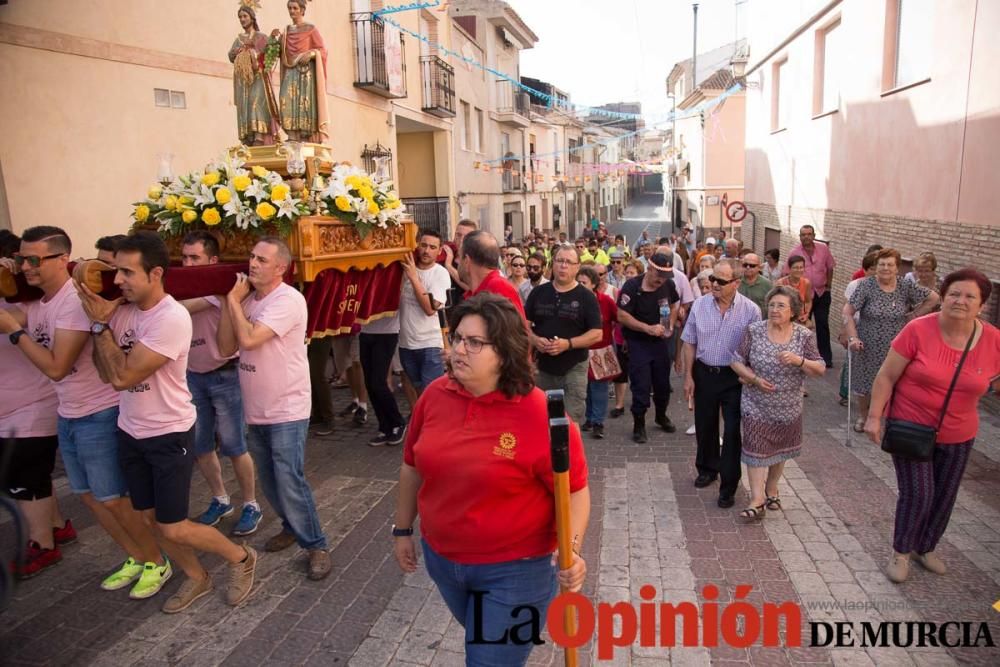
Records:
<instances>
[{"instance_id":1,"label":"pink t-shirt on partly cropped bearer at far left edge","mask_svg":"<svg viewBox=\"0 0 1000 667\"><path fill-rule=\"evenodd\" d=\"M17 306L0 300L0 309ZM52 381L13 345L0 344L0 368L0 438L55 435L59 399Z\"/></svg>"}]
</instances>

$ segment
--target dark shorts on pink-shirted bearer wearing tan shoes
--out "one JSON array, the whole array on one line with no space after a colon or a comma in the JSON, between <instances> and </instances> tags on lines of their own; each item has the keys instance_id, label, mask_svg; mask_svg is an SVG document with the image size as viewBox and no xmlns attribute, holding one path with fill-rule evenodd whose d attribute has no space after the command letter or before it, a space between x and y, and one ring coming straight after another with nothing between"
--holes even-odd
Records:
<instances>
[{"instance_id":1,"label":"dark shorts on pink-shirted bearer wearing tan shoes","mask_svg":"<svg viewBox=\"0 0 1000 667\"><path fill-rule=\"evenodd\" d=\"M194 427L141 440L118 429L118 461L132 507L155 510L157 523L188 518L194 459Z\"/></svg>"}]
</instances>

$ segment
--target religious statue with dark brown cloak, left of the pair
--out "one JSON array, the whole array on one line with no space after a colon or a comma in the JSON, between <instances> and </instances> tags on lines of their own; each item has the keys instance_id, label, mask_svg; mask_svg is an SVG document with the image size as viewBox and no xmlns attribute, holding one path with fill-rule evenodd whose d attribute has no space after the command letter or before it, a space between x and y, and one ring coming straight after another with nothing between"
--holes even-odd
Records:
<instances>
[{"instance_id":1,"label":"religious statue with dark brown cloak, left of the pair","mask_svg":"<svg viewBox=\"0 0 1000 667\"><path fill-rule=\"evenodd\" d=\"M247 146L270 145L278 134L278 105L264 68L267 35L257 26L257 14L252 7L240 7L236 16L243 32L229 49L229 62L233 63L233 101L239 139Z\"/></svg>"}]
</instances>

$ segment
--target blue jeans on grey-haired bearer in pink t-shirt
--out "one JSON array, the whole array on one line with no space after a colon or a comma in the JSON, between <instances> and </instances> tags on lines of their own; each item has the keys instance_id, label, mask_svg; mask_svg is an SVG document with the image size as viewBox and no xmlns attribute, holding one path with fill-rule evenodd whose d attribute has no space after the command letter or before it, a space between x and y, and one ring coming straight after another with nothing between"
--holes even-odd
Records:
<instances>
[{"instance_id":1,"label":"blue jeans on grey-haired bearer in pink t-shirt","mask_svg":"<svg viewBox=\"0 0 1000 667\"><path fill-rule=\"evenodd\" d=\"M303 549L326 549L326 535L312 489L306 481L305 449L309 420L247 425L247 445L264 497L281 526Z\"/></svg>"}]
</instances>

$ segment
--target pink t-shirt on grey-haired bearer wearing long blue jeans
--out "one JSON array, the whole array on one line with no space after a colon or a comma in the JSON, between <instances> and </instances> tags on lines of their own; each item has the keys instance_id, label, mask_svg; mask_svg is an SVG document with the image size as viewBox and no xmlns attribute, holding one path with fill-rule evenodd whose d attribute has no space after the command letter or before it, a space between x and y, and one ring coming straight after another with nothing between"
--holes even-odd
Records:
<instances>
[{"instance_id":1,"label":"pink t-shirt on grey-haired bearer wearing long blue jeans","mask_svg":"<svg viewBox=\"0 0 1000 667\"><path fill-rule=\"evenodd\" d=\"M263 299L251 294L243 312L275 335L253 350L240 349L240 389L248 424L309 419L312 388L306 360L306 300L281 283Z\"/></svg>"}]
</instances>

